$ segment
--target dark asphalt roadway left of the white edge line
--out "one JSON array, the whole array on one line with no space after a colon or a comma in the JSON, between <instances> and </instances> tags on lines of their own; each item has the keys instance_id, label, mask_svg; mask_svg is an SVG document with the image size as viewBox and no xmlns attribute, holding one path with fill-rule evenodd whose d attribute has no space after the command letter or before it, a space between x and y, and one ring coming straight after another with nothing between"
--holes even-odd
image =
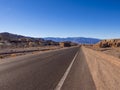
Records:
<instances>
[{"instance_id":1,"label":"dark asphalt roadway left of the white edge line","mask_svg":"<svg viewBox=\"0 0 120 90\"><path fill-rule=\"evenodd\" d=\"M79 47L0 64L0 90L54 90Z\"/></svg>"}]
</instances>

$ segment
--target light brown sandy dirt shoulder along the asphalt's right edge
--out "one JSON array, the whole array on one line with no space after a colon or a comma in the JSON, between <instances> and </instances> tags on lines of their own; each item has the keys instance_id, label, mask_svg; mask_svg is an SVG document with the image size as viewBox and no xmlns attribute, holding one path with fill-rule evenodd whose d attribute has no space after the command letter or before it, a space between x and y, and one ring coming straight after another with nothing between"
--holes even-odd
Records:
<instances>
[{"instance_id":1,"label":"light brown sandy dirt shoulder along the asphalt's right edge","mask_svg":"<svg viewBox=\"0 0 120 90\"><path fill-rule=\"evenodd\" d=\"M83 47L97 90L120 90L120 59Z\"/></svg>"}]
</instances>

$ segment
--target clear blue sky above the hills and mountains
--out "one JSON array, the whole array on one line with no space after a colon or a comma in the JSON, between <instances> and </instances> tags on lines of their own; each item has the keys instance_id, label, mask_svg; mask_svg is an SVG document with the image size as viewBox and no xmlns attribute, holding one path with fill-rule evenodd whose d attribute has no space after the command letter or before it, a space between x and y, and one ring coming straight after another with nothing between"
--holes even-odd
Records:
<instances>
[{"instance_id":1,"label":"clear blue sky above the hills and mountains","mask_svg":"<svg viewBox=\"0 0 120 90\"><path fill-rule=\"evenodd\" d=\"M119 0L0 0L0 32L120 38Z\"/></svg>"}]
</instances>

